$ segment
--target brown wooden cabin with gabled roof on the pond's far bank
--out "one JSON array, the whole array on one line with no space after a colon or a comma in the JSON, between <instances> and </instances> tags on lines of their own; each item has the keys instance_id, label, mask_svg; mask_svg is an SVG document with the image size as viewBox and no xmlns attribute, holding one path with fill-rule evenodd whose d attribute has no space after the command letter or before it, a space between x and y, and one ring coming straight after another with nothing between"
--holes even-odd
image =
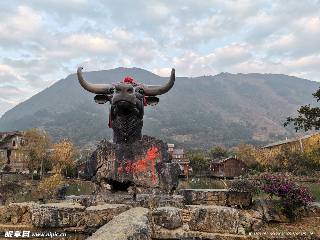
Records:
<instances>
[{"instance_id":1,"label":"brown wooden cabin with gabled roof on the pond's far bank","mask_svg":"<svg viewBox=\"0 0 320 240\"><path fill-rule=\"evenodd\" d=\"M209 162L210 176L219 178L234 178L244 176L244 161L234 156L219 157Z\"/></svg>"}]
</instances>

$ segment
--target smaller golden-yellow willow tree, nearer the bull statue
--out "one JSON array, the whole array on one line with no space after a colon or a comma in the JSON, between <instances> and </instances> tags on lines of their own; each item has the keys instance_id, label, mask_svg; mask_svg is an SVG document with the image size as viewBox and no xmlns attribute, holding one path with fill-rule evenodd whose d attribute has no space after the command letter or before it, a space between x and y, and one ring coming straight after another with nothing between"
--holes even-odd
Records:
<instances>
[{"instance_id":1,"label":"smaller golden-yellow willow tree, nearer the bull statue","mask_svg":"<svg viewBox=\"0 0 320 240\"><path fill-rule=\"evenodd\" d=\"M52 166L55 168L56 174L61 174L63 169L73 167L73 145L73 142L67 142L66 139L58 143L53 143L54 153L52 156Z\"/></svg>"}]
</instances>

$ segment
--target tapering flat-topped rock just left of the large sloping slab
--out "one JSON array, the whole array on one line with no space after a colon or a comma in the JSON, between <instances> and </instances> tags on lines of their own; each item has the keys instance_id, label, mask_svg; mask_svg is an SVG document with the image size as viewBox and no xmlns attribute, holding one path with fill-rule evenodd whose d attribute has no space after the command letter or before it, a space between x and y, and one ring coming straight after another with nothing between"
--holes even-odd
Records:
<instances>
[{"instance_id":1,"label":"tapering flat-topped rock just left of the large sloping slab","mask_svg":"<svg viewBox=\"0 0 320 240\"><path fill-rule=\"evenodd\" d=\"M105 225L114 216L130 208L132 208L132 206L125 204L104 204L88 207L83 213L85 225L89 227L100 227Z\"/></svg>"}]
</instances>

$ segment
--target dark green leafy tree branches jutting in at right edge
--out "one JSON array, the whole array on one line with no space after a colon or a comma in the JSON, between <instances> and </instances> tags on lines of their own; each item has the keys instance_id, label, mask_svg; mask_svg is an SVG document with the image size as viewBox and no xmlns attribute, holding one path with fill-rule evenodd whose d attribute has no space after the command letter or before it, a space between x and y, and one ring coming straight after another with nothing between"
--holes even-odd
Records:
<instances>
[{"instance_id":1,"label":"dark green leafy tree branches jutting in at right edge","mask_svg":"<svg viewBox=\"0 0 320 240\"><path fill-rule=\"evenodd\" d=\"M312 94L314 98L316 98L317 102L320 100L320 87L316 93ZM303 129L304 131L311 130L312 127L315 128L315 130L320 129L320 108L319 107L310 107L311 104L308 104L306 106L301 106L298 110L298 113L300 116L292 118L287 117L287 121L284 123L284 127L287 127L288 124L293 122L293 125L295 126L296 132L299 129Z\"/></svg>"}]
</instances>

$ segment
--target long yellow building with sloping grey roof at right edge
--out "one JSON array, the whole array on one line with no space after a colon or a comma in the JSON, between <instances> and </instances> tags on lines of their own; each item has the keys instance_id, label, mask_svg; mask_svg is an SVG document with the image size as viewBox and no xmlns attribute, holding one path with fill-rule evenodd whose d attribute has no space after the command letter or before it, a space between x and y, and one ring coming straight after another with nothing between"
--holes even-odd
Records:
<instances>
[{"instance_id":1,"label":"long yellow building with sloping grey roof at right edge","mask_svg":"<svg viewBox=\"0 0 320 240\"><path fill-rule=\"evenodd\" d=\"M295 138L270 143L261 149L265 154L274 157L276 154L281 152L284 145L288 146L292 152L310 152L314 149L320 148L320 134L311 133L305 136L298 136Z\"/></svg>"}]
</instances>

